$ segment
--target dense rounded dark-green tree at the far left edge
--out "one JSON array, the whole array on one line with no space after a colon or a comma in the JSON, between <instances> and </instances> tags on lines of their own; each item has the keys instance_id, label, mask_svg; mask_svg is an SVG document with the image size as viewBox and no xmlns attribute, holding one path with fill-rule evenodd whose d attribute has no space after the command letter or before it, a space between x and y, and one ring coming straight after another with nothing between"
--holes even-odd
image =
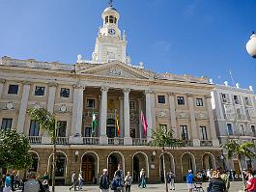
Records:
<instances>
[{"instance_id":1,"label":"dense rounded dark-green tree at the far left edge","mask_svg":"<svg viewBox=\"0 0 256 192\"><path fill-rule=\"evenodd\" d=\"M28 138L15 129L0 130L0 167L5 169L27 169L32 164Z\"/></svg>"}]
</instances>

